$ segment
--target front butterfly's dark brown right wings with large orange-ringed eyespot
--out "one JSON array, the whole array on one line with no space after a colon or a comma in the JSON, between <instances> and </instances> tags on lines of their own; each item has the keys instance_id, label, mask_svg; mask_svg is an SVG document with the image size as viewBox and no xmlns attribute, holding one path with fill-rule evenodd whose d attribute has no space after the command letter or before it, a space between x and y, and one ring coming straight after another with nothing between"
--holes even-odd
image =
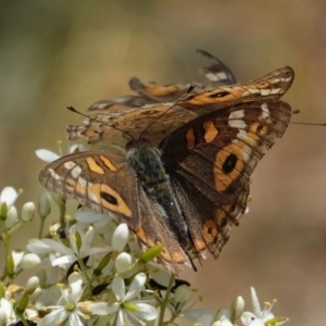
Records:
<instances>
[{"instance_id":1,"label":"front butterfly's dark brown right wings with large orange-ringed eyespot","mask_svg":"<svg viewBox=\"0 0 326 326\"><path fill-rule=\"evenodd\" d=\"M238 225L259 160L284 135L291 108L260 100L223 108L172 133L161 143L162 160L193 241L217 258Z\"/></svg>"}]
</instances>

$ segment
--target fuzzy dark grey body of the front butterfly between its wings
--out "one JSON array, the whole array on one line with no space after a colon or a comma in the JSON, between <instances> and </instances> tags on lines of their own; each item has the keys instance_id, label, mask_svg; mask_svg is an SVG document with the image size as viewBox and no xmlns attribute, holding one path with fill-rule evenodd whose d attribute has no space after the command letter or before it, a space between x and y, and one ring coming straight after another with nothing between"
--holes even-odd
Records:
<instances>
[{"instance_id":1,"label":"fuzzy dark grey body of the front butterfly between its wings","mask_svg":"<svg viewBox=\"0 0 326 326\"><path fill-rule=\"evenodd\" d=\"M140 187L156 205L165 224L184 248L190 247L188 227L172 190L168 174L161 160L161 151L146 139L136 140L127 145L127 161L136 172Z\"/></svg>"}]
</instances>

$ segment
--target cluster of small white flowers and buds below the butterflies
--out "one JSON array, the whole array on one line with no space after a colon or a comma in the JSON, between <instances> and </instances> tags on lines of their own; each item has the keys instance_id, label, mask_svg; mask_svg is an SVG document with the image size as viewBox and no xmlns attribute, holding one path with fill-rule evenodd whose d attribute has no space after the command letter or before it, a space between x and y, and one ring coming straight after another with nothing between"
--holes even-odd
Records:
<instances>
[{"instance_id":1,"label":"cluster of small white flowers and buds below the butterflies","mask_svg":"<svg viewBox=\"0 0 326 326\"><path fill-rule=\"evenodd\" d=\"M41 150L39 156L55 155ZM60 208L59 222L45 231L51 212L51 199L38 201L40 229L24 251L11 249L17 227L32 221L35 204L23 205L21 218L14 203L18 192L7 187L0 196L0 233L4 262L0 281L0 325L104 326L104 325L202 325L244 326L281 325L273 304L261 310L251 289L252 312L244 312L238 297L229 310L196 310L199 299L190 285L168 274L153 260L158 246L142 252L126 224L117 224L90 209L77 211L74 218L65 214L65 200L53 196ZM16 277L35 271L25 286ZM188 324L187 324L188 323Z\"/></svg>"}]
</instances>

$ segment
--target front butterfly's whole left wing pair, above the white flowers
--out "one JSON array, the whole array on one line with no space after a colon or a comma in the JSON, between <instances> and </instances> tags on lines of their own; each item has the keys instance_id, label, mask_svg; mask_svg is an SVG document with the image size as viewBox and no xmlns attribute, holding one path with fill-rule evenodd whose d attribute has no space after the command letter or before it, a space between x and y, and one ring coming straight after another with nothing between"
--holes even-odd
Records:
<instances>
[{"instance_id":1,"label":"front butterfly's whole left wing pair, above the white flowers","mask_svg":"<svg viewBox=\"0 0 326 326\"><path fill-rule=\"evenodd\" d=\"M126 223L141 247L163 244L162 261L174 273L190 265L164 225L162 210L145 193L125 155L108 151L70 154L46 166L39 179L48 190Z\"/></svg>"}]
</instances>

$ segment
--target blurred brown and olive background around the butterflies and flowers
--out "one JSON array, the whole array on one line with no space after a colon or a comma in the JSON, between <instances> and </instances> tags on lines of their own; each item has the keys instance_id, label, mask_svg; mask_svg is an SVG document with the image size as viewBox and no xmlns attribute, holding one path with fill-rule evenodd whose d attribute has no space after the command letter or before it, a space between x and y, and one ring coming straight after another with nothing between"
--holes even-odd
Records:
<instances>
[{"instance_id":1,"label":"blurred brown and olive background around the butterflies and flowers","mask_svg":"<svg viewBox=\"0 0 326 326\"><path fill-rule=\"evenodd\" d=\"M0 189L24 188L17 206L36 201L45 163L35 150L66 148L65 126L98 100L130 93L128 79L201 80L204 49L248 82L290 65L285 96L301 114L326 122L326 2L292 1L15 1L0 0ZM290 125L253 174L250 213L217 261L183 278L201 306L228 308L250 286L292 325L325 321L326 128ZM72 210L71 213L73 213ZM17 248L36 237L15 236ZM1 262L0 262L1 265ZM2 267L0 268L2 269Z\"/></svg>"}]
</instances>

